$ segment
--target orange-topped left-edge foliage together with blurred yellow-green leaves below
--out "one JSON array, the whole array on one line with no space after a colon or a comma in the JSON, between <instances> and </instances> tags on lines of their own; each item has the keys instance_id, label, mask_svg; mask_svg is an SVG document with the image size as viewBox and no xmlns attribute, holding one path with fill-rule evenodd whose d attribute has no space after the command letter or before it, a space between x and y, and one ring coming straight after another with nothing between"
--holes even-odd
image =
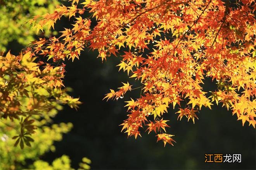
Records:
<instances>
[{"instance_id":1,"label":"orange-topped left-edge foliage together with blurred yellow-green leaves below","mask_svg":"<svg viewBox=\"0 0 256 170\"><path fill-rule=\"evenodd\" d=\"M10 53L0 56L0 169L24 168L27 159L35 160L30 166L39 170L70 169L67 156L54 160L52 166L38 157L54 151L54 141L61 141L62 134L73 126L52 124L61 105L77 108L81 102L66 93L70 88L56 88L62 84L64 65L48 65L40 70L34 60L30 52L17 57ZM17 145L20 147L13 147ZM81 168L90 166L81 163Z\"/></svg>"}]
</instances>

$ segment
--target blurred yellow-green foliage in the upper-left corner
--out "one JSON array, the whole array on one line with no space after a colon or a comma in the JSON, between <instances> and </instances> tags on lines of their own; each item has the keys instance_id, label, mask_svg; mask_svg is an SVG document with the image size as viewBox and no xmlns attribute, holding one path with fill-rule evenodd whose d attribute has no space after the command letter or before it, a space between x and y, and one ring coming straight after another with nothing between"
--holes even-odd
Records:
<instances>
[{"instance_id":1,"label":"blurred yellow-green foliage in the upper-left corner","mask_svg":"<svg viewBox=\"0 0 256 170\"><path fill-rule=\"evenodd\" d=\"M28 18L53 12L58 0L0 0L0 51L11 41L28 45L34 41L35 30L24 24ZM53 32L45 30L43 36Z\"/></svg>"}]
</instances>

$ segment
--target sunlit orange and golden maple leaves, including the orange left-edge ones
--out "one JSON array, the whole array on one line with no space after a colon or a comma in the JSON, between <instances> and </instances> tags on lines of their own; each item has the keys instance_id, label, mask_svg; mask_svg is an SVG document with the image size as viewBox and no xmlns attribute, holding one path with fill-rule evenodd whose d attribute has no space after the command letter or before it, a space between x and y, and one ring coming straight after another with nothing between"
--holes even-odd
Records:
<instances>
[{"instance_id":1,"label":"sunlit orange and golden maple leaves, including the orange left-edge ones","mask_svg":"<svg viewBox=\"0 0 256 170\"><path fill-rule=\"evenodd\" d=\"M54 99L77 107L80 104L78 99L67 96L62 90L64 63L67 59L79 59L81 51L89 48L99 51L102 62L110 56L122 56L119 70L129 76L129 80L124 80L117 90L110 90L104 99L118 100L130 90L141 89L140 97L126 101L128 118L121 125L128 136L137 138L144 128L148 133L154 131L157 141L173 145L173 135L165 131L169 127L168 120L163 119L167 108L177 107L178 119L187 117L194 122L202 107L211 109L215 103L232 110L232 114L242 120L242 125L247 122L255 128L253 0L71 2L71 6L60 5L52 14L36 15L28 21L37 32L41 32L43 27L54 29L57 20L67 16L72 28L64 28L59 36L32 42L17 57L7 54L2 57L3 61L0 58L1 77L7 76L6 67L9 65L6 63L16 63L16 68L25 74L19 73L12 76L15 80L10 80L21 82L21 87L37 83L47 92L47 95L37 94L44 95L44 100ZM90 17L85 17L85 13ZM93 20L96 20L95 25ZM12 66L9 70L13 70ZM0 79L3 82L0 83L1 89L10 83L7 78ZM202 88L205 78L216 83L214 91ZM131 85L135 80L140 81L140 87ZM19 102L17 95L26 95L26 90L18 90L12 97L6 93L8 90L2 91L0 99L11 104ZM1 105L2 118L33 115L36 114L35 106L44 105L45 101L40 100L31 101L23 110L19 104Z\"/></svg>"}]
</instances>

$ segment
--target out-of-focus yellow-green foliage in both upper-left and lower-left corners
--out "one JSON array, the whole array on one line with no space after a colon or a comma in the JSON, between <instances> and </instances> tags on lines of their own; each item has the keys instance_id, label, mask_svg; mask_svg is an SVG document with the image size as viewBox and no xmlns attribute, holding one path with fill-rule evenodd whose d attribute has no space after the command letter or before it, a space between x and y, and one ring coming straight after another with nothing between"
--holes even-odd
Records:
<instances>
[{"instance_id":1,"label":"out-of-focus yellow-green foliage in both upper-left and lower-left corners","mask_svg":"<svg viewBox=\"0 0 256 170\"><path fill-rule=\"evenodd\" d=\"M43 15L52 12L59 4L57 0L0 0L0 51L14 51L18 54L30 41L35 40L35 30L32 30L26 21L34 15ZM40 36L51 36L54 31L45 31ZM11 45L10 45L11 44ZM70 89L69 89L70 90ZM20 100L22 106L27 106L29 98ZM54 124L52 117L62 109L57 103L52 103L50 112L45 109L37 110L40 115L34 115L37 121L35 134L31 140L31 147L25 146L22 150L14 147L16 140L12 139L19 133L19 120L9 118L0 119L0 170L32 168L38 170L71 169L69 156L62 155L53 159L52 163L40 160L48 151L55 151L54 141L61 141L62 135L73 127L70 122ZM0 110L1 113L1 110ZM81 160L81 159L80 159ZM90 160L83 158L80 168L89 169Z\"/></svg>"}]
</instances>

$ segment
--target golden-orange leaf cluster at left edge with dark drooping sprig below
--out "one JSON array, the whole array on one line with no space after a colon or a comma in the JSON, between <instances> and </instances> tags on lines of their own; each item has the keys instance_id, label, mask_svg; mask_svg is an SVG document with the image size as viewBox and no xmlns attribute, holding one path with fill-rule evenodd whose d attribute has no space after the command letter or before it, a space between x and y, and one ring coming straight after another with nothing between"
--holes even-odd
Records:
<instances>
[{"instance_id":1,"label":"golden-orange leaf cluster at left edge with dark drooping sprig below","mask_svg":"<svg viewBox=\"0 0 256 170\"><path fill-rule=\"evenodd\" d=\"M67 95L67 89L55 88L62 84L63 65L46 66L40 70L30 52L18 57L7 53L0 56L0 114L1 118L20 119L15 145L31 146L29 137L35 133L33 116L50 117L59 104L78 107L80 102ZM63 68L61 70L61 68Z\"/></svg>"}]
</instances>

